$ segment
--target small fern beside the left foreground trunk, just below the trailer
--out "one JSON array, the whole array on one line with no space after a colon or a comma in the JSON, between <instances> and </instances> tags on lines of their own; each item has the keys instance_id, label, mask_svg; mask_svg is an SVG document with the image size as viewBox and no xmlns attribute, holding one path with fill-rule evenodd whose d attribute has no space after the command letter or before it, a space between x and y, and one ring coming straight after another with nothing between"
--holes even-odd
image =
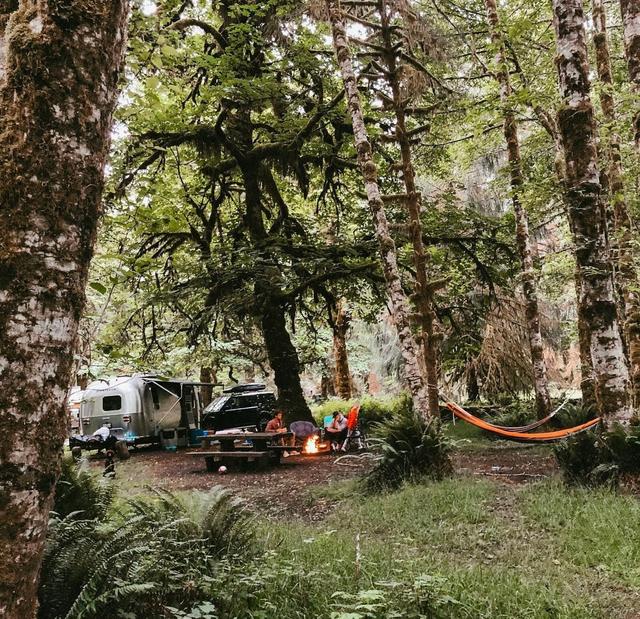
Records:
<instances>
[{"instance_id":1,"label":"small fern beside the left foreground trunk, just below the trailer","mask_svg":"<svg viewBox=\"0 0 640 619\"><path fill-rule=\"evenodd\" d=\"M73 458L63 458L53 504L56 517L65 518L77 512L85 520L102 519L113 496L110 479L91 472L86 463L78 464Z\"/></svg>"}]
</instances>

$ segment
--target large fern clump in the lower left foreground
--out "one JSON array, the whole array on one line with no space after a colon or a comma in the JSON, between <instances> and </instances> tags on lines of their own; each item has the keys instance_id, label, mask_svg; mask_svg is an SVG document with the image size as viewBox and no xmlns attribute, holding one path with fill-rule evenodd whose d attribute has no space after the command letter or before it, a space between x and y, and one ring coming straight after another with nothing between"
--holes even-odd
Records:
<instances>
[{"instance_id":1,"label":"large fern clump in the lower left foreground","mask_svg":"<svg viewBox=\"0 0 640 619\"><path fill-rule=\"evenodd\" d=\"M220 487L188 501L129 499L104 521L77 516L50 523L39 619L179 616L168 609L206 602L217 563L241 563L254 540L249 515Z\"/></svg>"}]
</instances>

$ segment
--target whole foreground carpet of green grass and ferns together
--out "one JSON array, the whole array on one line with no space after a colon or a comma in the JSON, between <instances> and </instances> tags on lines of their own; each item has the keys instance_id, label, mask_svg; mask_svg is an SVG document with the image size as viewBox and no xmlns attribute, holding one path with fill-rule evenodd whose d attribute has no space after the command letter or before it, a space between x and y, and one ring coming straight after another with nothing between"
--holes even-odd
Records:
<instances>
[{"instance_id":1,"label":"whole foreground carpet of green grass and ferns together","mask_svg":"<svg viewBox=\"0 0 640 619\"><path fill-rule=\"evenodd\" d=\"M119 497L100 522L54 523L43 607L69 608L84 573L104 612L91 611L89 589L70 617L106 619L105 600L119 600L124 614L113 616L128 619L150 616L136 607L152 604L153 616L181 619L616 619L638 607L636 497L464 476L359 489L357 480L310 488L309 507L337 502L316 523L247 520L220 491L214 503L188 492ZM79 554L60 554L61 543ZM96 566L87 548L109 560Z\"/></svg>"}]
</instances>

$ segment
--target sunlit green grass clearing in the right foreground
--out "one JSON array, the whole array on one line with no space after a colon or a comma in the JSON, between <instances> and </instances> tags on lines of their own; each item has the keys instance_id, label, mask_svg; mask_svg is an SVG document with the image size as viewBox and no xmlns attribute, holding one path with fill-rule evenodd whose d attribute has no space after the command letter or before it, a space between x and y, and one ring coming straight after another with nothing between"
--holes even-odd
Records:
<instances>
[{"instance_id":1,"label":"sunlit green grass clearing in the right foreground","mask_svg":"<svg viewBox=\"0 0 640 619\"><path fill-rule=\"evenodd\" d=\"M320 525L276 525L271 539L295 566L291 590L317 616L414 616L416 582L427 578L436 610L423 616L628 617L640 594L639 517L636 499L611 493L454 478L354 496ZM391 610L363 603L367 591L383 592ZM304 616L291 600L280 616Z\"/></svg>"}]
</instances>

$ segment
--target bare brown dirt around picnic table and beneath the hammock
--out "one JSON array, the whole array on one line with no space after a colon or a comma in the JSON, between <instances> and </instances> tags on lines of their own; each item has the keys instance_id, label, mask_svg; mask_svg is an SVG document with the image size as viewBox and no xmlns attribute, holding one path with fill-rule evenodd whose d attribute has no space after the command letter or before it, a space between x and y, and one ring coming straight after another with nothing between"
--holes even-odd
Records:
<instances>
[{"instance_id":1,"label":"bare brown dirt around picnic table and beneath the hammock","mask_svg":"<svg viewBox=\"0 0 640 619\"><path fill-rule=\"evenodd\" d=\"M456 474L489 477L506 484L538 481L556 474L557 466L550 450L522 446L458 451L454 454ZM322 520L340 499L313 488L353 479L366 472L371 460L352 456L336 458L330 454L291 456L264 471L229 471L209 473L204 458L187 455L189 450L168 453L159 449L140 449L131 458L116 464L116 479L124 493L136 493L145 487L171 491L206 490L222 485L244 497L255 511L272 518L306 521ZM100 468L102 459L90 458L92 467Z\"/></svg>"}]
</instances>

